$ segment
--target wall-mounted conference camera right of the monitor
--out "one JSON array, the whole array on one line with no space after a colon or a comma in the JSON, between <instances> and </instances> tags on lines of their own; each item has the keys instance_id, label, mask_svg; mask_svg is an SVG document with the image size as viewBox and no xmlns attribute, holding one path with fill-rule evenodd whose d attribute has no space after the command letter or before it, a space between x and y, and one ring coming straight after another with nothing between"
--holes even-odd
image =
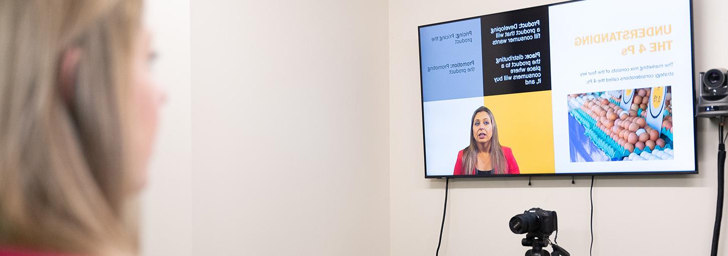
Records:
<instances>
[{"instance_id":1,"label":"wall-mounted conference camera right of the monitor","mask_svg":"<svg viewBox=\"0 0 728 256\"><path fill-rule=\"evenodd\" d=\"M696 92L695 116L728 116L728 71L725 68L700 72L700 85Z\"/></svg>"}]
</instances>

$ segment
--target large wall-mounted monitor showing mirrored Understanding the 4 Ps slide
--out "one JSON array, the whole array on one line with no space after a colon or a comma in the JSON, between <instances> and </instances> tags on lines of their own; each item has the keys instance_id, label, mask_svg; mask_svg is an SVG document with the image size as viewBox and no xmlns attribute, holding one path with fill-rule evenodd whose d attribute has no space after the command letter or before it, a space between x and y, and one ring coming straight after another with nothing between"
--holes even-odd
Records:
<instances>
[{"instance_id":1,"label":"large wall-mounted monitor showing mirrored Understanding the 4 Ps slide","mask_svg":"<svg viewBox=\"0 0 728 256\"><path fill-rule=\"evenodd\" d=\"M697 173L691 1L418 29L425 177Z\"/></svg>"}]
</instances>

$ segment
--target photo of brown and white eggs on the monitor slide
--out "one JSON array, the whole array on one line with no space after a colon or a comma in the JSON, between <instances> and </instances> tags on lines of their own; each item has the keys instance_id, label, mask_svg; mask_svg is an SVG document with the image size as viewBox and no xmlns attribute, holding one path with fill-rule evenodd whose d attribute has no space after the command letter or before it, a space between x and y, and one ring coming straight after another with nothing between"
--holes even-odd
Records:
<instances>
[{"instance_id":1,"label":"photo of brown and white eggs on the monitor slide","mask_svg":"<svg viewBox=\"0 0 728 256\"><path fill-rule=\"evenodd\" d=\"M670 87L567 96L571 162L673 159Z\"/></svg>"}]
</instances>

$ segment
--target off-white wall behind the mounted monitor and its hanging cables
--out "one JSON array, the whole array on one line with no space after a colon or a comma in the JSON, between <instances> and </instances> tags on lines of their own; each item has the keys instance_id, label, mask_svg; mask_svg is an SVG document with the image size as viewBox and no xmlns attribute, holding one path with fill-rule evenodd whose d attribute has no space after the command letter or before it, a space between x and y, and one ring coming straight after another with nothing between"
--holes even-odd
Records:
<instances>
[{"instance_id":1,"label":"off-white wall behind the mounted monitor and its hanging cables","mask_svg":"<svg viewBox=\"0 0 728 256\"><path fill-rule=\"evenodd\" d=\"M389 167L391 255L432 255L438 244L445 180L425 180L417 26L555 1L389 1ZM696 71L728 67L728 2L695 0ZM698 175L597 177L593 255L709 255L716 195L716 124L700 119ZM577 177L454 180L440 255L523 255L507 228L530 207L559 215L558 242L588 255L589 183ZM721 253L728 253L723 228Z\"/></svg>"}]
</instances>

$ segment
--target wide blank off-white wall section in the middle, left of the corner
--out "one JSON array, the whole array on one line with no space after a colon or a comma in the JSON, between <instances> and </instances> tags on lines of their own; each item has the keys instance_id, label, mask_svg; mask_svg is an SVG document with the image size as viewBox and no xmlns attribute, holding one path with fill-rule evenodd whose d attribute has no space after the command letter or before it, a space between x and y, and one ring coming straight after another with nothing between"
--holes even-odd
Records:
<instances>
[{"instance_id":1,"label":"wide blank off-white wall section in the middle, left of the corner","mask_svg":"<svg viewBox=\"0 0 728 256\"><path fill-rule=\"evenodd\" d=\"M387 1L191 1L192 255L387 255Z\"/></svg>"}]
</instances>

